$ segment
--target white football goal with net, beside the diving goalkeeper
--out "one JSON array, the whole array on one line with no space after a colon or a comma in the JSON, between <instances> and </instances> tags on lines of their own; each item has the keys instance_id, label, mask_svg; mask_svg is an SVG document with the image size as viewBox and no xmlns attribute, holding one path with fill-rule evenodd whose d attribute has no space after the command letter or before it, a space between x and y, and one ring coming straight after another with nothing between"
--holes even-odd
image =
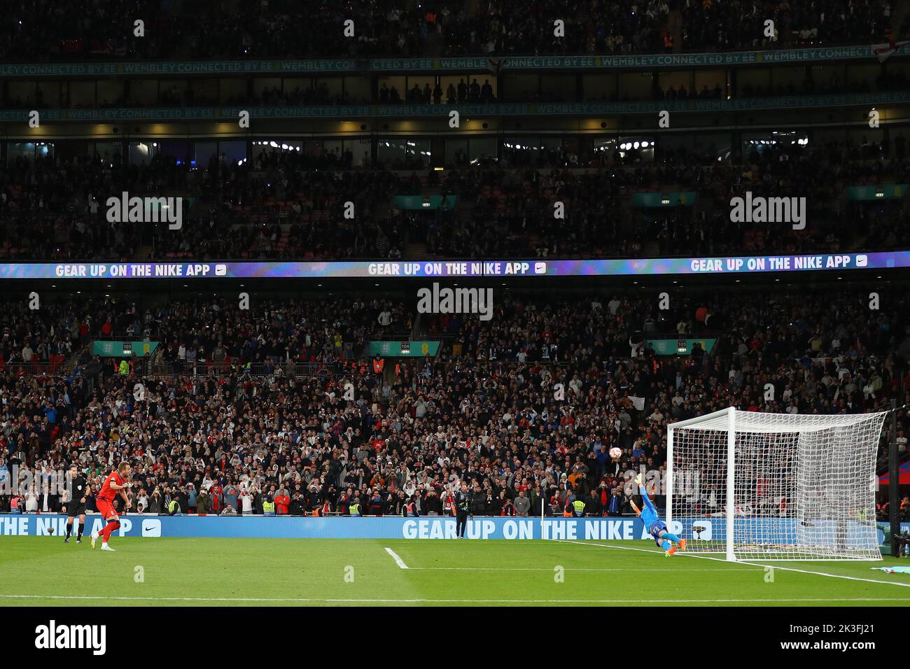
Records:
<instances>
[{"instance_id":1,"label":"white football goal with net, beside the diving goalkeeper","mask_svg":"<svg viewBox=\"0 0 910 669\"><path fill-rule=\"evenodd\" d=\"M875 456L887 411L732 407L667 427L667 524L687 552L737 560L880 560Z\"/></svg>"}]
</instances>

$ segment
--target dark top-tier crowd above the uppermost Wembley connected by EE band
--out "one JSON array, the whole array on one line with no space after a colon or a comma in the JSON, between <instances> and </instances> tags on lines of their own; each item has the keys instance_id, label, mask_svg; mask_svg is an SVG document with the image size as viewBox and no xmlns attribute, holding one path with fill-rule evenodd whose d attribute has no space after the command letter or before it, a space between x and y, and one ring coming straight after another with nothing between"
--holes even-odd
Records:
<instances>
[{"instance_id":1,"label":"dark top-tier crowd above the uppermost Wembley connected by EE band","mask_svg":"<svg viewBox=\"0 0 910 669\"><path fill-rule=\"evenodd\" d=\"M885 41L888 0L294 0L6 2L0 57L268 58L630 54ZM144 21L136 35L136 20ZM345 22L353 33L344 35ZM554 21L562 20L557 34ZM765 21L773 20L766 36ZM895 39L905 34L897 26Z\"/></svg>"}]
</instances>

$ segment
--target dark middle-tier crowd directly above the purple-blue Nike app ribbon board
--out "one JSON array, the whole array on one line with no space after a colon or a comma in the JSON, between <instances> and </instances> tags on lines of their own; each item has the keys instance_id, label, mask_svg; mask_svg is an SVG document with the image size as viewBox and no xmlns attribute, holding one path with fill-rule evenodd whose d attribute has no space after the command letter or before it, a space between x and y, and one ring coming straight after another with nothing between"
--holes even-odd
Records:
<instances>
[{"instance_id":1,"label":"dark middle-tier crowd directly above the purple-blue Nike app ribbon board","mask_svg":"<svg viewBox=\"0 0 910 669\"><path fill-rule=\"evenodd\" d=\"M903 199L854 203L841 194L855 184L910 182L905 137L796 141L755 141L720 162L714 147L663 147L656 157L633 148L579 156L564 145L511 147L499 162L471 164L459 154L443 173L353 168L350 151L258 147L243 164L213 156L206 166L160 154L126 167L110 156L15 157L0 168L0 258L400 258L414 244L448 258L898 248L910 233ZM694 191L694 206L623 206L634 193L667 190ZM123 191L183 197L182 227L108 222L106 198ZM731 198L747 191L806 198L805 229L731 222ZM427 192L456 195L460 208L393 207L396 194ZM563 218L554 215L557 202Z\"/></svg>"}]
</instances>

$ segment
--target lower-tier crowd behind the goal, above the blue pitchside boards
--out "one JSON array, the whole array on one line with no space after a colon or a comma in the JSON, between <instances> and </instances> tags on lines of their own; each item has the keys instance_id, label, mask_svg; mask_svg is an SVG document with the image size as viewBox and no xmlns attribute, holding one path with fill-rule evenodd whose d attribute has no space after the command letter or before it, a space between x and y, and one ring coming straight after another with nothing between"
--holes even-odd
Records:
<instances>
[{"instance_id":1,"label":"lower-tier crowd behind the goal, above the blue pitchside boards","mask_svg":"<svg viewBox=\"0 0 910 669\"><path fill-rule=\"evenodd\" d=\"M504 290L489 322L412 321L443 350L397 363L368 360L362 346L412 318L379 295L249 311L217 299L162 304L142 318L171 351L163 373L93 367L86 354L57 374L0 371L0 477L41 481L76 461L96 486L126 460L134 509L147 513L400 514L413 500L421 514L448 514L453 486L468 481L478 515L561 514L576 499L588 513L621 514L626 472L662 471L668 422L730 405L853 413L910 400L900 397L910 372L889 352L906 336L906 296L881 290L878 312L860 288L838 300L824 289L682 293L669 311L631 293ZM134 311L110 310L121 324ZM87 320L66 309L40 318ZM16 345L33 327L15 326ZM661 336L717 341L659 356L647 338ZM257 371L253 360L272 364ZM295 374L287 363L298 361L319 371ZM904 457L908 423L901 411ZM40 486L0 493L2 511L61 503Z\"/></svg>"}]
</instances>

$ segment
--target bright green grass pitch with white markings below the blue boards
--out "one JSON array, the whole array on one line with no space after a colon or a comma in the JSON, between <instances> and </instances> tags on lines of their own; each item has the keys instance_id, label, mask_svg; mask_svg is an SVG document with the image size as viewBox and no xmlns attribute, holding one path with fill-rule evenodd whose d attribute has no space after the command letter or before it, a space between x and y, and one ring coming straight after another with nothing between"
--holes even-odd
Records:
<instances>
[{"instance_id":1,"label":"bright green grass pitch with white markings below the blue boards","mask_svg":"<svg viewBox=\"0 0 910 669\"><path fill-rule=\"evenodd\" d=\"M762 566L665 558L652 542L115 537L111 546L0 537L0 606L910 605L910 575L870 568L907 564L890 558L776 563L767 583Z\"/></svg>"}]
</instances>

